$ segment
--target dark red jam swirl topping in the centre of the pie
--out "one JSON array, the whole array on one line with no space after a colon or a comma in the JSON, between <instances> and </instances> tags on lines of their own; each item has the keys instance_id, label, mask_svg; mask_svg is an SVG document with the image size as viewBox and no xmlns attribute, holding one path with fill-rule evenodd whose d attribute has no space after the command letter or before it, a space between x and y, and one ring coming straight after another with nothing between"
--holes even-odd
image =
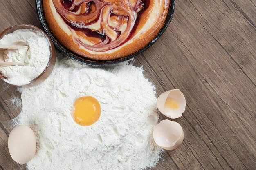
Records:
<instances>
[{"instance_id":1,"label":"dark red jam swirl topping in the centre of the pie","mask_svg":"<svg viewBox=\"0 0 256 170\"><path fill-rule=\"evenodd\" d=\"M72 31L76 44L86 49L104 52L115 49L134 35L141 14L148 8L150 0L53 0L57 12ZM79 11L80 9L80 11ZM115 17L115 26L110 26L111 17ZM100 29L94 30L88 26L100 20ZM120 30L121 26L125 29ZM76 31L87 37L100 40L89 45L81 41Z\"/></svg>"}]
</instances>

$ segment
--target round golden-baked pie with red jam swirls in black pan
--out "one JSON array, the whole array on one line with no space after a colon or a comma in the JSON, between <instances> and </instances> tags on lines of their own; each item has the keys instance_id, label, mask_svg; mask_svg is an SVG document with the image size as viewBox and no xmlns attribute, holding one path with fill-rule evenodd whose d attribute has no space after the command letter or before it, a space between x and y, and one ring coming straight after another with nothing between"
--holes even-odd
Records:
<instances>
[{"instance_id":1,"label":"round golden-baked pie with red jam swirls in black pan","mask_svg":"<svg viewBox=\"0 0 256 170\"><path fill-rule=\"evenodd\" d=\"M67 49L93 60L139 51L162 28L170 0L43 0L49 28Z\"/></svg>"}]
</instances>

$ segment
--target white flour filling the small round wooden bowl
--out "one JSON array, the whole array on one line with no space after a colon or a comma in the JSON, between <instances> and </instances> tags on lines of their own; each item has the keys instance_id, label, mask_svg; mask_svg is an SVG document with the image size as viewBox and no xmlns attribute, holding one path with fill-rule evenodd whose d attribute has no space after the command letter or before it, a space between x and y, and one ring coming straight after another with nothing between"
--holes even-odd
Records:
<instances>
[{"instance_id":1,"label":"white flour filling the small round wooden bowl","mask_svg":"<svg viewBox=\"0 0 256 170\"><path fill-rule=\"evenodd\" d=\"M49 62L50 49L45 36L31 29L20 29L5 35L0 44L27 45L29 48L7 49L6 62L19 62L23 66L0 67L0 73L10 84L23 85L40 75Z\"/></svg>"}]
</instances>

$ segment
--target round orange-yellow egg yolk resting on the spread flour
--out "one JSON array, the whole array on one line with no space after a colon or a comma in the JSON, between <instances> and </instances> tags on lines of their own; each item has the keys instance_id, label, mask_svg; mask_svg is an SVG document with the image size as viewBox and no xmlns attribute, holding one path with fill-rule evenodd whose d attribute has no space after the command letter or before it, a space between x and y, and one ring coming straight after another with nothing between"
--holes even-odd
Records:
<instances>
[{"instance_id":1,"label":"round orange-yellow egg yolk resting on the spread flour","mask_svg":"<svg viewBox=\"0 0 256 170\"><path fill-rule=\"evenodd\" d=\"M92 96L77 98L72 109L74 121L81 126L94 124L101 115L101 105Z\"/></svg>"}]
</instances>

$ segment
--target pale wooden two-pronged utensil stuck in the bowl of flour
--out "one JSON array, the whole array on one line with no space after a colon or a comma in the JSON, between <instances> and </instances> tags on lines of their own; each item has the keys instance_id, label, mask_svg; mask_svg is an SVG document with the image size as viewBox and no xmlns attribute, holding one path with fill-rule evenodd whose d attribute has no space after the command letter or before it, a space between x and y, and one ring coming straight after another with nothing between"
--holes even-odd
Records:
<instances>
[{"instance_id":1,"label":"pale wooden two-pronged utensil stuck in the bowl of flour","mask_svg":"<svg viewBox=\"0 0 256 170\"><path fill-rule=\"evenodd\" d=\"M0 50L2 50L2 49L22 49L22 48L28 48L28 46L0 44ZM18 63L18 62L5 62L4 55L0 54L0 66L23 66L23 64Z\"/></svg>"}]
</instances>

